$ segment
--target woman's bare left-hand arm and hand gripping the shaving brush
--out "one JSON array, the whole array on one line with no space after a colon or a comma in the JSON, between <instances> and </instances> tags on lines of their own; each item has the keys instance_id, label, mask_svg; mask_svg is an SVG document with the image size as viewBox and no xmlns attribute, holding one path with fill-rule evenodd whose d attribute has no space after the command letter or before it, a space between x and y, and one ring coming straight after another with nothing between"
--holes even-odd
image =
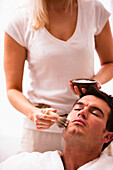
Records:
<instances>
[{"instance_id":1,"label":"woman's bare left-hand arm and hand gripping the shaving brush","mask_svg":"<svg viewBox=\"0 0 113 170\"><path fill-rule=\"evenodd\" d=\"M8 99L15 109L36 123L37 129L48 129L53 124L50 120L56 119L55 116L45 116L46 110L33 106L22 93L25 60L26 49L5 33L4 70ZM52 111L56 112L55 109ZM41 122L41 126L37 122Z\"/></svg>"}]
</instances>

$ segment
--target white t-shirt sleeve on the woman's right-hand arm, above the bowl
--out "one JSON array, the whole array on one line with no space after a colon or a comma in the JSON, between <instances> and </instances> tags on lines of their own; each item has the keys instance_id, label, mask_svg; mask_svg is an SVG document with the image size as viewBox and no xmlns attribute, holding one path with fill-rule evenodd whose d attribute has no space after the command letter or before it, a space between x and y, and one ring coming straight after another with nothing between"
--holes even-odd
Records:
<instances>
[{"instance_id":1,"label":"white t-shirt sleeve on the woman's right-hand arm, above the bowl","mask_svg":"<svg viewBox=\"0 0 113 170\"><path fill-rule=\"evenodd\" d=\"M101 33L109 19L109 16L110 13L104 8L104 6L99 1L95 1L95 35Z\"/></svg>"}]
</instances>

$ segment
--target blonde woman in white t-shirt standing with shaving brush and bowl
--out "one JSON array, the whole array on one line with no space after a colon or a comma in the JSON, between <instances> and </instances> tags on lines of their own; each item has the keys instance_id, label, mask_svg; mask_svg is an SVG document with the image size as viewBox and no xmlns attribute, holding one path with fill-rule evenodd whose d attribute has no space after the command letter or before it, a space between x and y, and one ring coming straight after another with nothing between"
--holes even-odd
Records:
<instances>
[{"instance_id":1,"label":"blonde woman in white t-shirt standing with shaving brush and bowl","mask_svg":"<svg viewBox=\"0 0 113 170\"><path fill-rule=\"evenodd\" d=\"M19 14L5 29L7 94L11 104L26 116L22 151L62 150L62 131L53 121L56 116L44 113L71 110L77 95L69 80L93 78L104 84L113 77L110 14L96 0L31 3L32 12L25 17ZM101 63L96 75L95 49ZM28 98L22 93L25 60L31 78ZM74 92L80 95L77 87Z\"/></svg>"}]
</instances>

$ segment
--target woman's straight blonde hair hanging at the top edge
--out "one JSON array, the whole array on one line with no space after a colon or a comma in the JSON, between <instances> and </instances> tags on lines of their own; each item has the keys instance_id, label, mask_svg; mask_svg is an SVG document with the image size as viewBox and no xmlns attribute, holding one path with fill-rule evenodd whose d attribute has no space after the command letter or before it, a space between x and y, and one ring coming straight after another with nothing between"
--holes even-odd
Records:
<instances>
[{"instance_id":1,"label":"woman's straight blonde hair hanging at the top edge","mask_svg":"<svg viewBox=\"0 0 113 170\"><path fill-rule=\"evenodd\" d=\"M66 10L69 8L69 6L72 8L73 1L74 0L65 0ZM46 0L31 0L31 15L31 24L35 30L43 28L44 26L49 27Z\"/></svg>"}]
</instances>

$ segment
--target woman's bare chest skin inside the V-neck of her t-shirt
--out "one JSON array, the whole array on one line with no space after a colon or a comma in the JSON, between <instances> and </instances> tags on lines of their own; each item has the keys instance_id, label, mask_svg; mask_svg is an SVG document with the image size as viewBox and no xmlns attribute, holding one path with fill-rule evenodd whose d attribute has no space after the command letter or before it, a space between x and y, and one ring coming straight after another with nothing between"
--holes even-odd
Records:
<instances>
[{"instance_id":1,"label":"woman's bare chest skin inside the V-neck of her t-shirt","mask_svg":"<svg viewBox=\"0 0 113 170\"><path fill-rule=\"evenodd\" d=\"M56 38L67 41L76 29L78 14L77 2L74 3L72 12L70 12L70 8L68 10L63 8L65 6L63 1L49 0L47 1L47 6L50 23L49 32Z\"/></svg>"}]
</instances>

